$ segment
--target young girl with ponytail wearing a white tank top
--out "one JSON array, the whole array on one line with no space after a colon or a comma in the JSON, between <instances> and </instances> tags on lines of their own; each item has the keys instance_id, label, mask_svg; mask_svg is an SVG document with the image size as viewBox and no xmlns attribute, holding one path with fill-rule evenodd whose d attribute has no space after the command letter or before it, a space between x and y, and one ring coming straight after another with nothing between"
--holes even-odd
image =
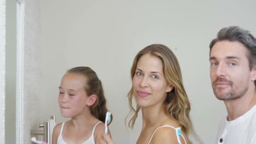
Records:
<instances>
[{"instance_id":1,"label":"young girl with ponytail wearing a white tank top","mask_svg":"<svg viewBox=\"0 0 256 144\"><path fill-rule=\"evenodd\" d=\"M96 143L104 133L108 110L95 71L89 67L72 68L62 77L59 89L61 115L71 119L55 126L53 144Z\"/></svg>"}]
</instances>

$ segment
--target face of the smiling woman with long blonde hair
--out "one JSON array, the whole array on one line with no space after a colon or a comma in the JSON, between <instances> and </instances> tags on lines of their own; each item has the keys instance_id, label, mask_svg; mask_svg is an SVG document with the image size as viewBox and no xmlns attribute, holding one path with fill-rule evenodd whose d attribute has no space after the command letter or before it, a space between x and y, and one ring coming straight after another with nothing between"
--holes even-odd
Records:
<instances>
[{"instance_id":1,"label":"face of the smiling woman with long blonde hair","mask_svg":"<svg viewBox=\"0 0 256 144\"><path fill-rule=\"evenodd\" d=\"M133 93L139 106L162 105L167 92L172 90L173 87L167 84L162 70L160 58L149 53L139 58L132 79Z\"/></svg>"}]
</instances>

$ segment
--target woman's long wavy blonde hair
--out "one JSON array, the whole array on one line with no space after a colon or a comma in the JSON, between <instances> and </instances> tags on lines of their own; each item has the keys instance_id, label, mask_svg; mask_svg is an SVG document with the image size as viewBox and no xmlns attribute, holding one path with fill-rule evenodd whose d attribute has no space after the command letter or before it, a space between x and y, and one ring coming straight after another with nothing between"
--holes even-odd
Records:
<instances>
[{"instance_id":1,"label":"woman's long wavy blonde hair","mask_svg":"<svg viewBox=\"0 0 256 144\"><path fill-rule=\"evenodd\" d=\"M131 79L133 79L133 76L135 75L139 58L147 53L161 59L166 82L174 87L171 92L167 93L166 100L163 104L167 116L174 119L174 121L181 126L183 132L188 135L190 129L192 129L192 124L189 117L190 103L183 86L182 73L178 60L167 46L153 44L139 51L133 60L131 67ZM127 97L129 98L130 113L134 113L129 121L129 127L133 128L141 107L136 104L135 109L132 106L132 99L134 98L133 88L131 88Z\"/></svg>"}]
</instances>

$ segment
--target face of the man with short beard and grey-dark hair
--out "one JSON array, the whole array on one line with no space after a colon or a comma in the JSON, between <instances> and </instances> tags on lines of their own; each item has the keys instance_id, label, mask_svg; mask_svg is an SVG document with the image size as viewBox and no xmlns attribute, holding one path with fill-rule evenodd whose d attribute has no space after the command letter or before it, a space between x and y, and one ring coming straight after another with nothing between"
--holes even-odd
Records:
<instances>
[{"instance_id":1,"label":"face of the man with short beard and grey-dark hair","mask_svg":"<svg viewBox=\"0 0 256 144\"><path fill-rule=\"evenodd\" d=\"M219 100L243 97L254 86L254 69L250 70L249 51L236 41L218 41L210 53L212 88Z\"/></svg>"}]
</instances>

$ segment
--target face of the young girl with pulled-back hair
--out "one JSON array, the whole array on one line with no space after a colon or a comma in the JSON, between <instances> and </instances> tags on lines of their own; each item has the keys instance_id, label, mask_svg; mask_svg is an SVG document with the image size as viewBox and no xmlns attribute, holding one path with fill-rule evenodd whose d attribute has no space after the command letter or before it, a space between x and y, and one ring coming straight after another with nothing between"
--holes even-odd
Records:
<instances>
[{"instance_id":1,"label":"face of the young girl with pulled-back hair","mask_svg":"<svg viewBox=\"0 0 256 144\"><path fill-rule=\"evenodd\" d=\"M89 98L84 89L86 81L86 77L77 74L65 74L62 77L59 105L63 117L74 117L84 112Z\"/></svg>"}]
</instances>

